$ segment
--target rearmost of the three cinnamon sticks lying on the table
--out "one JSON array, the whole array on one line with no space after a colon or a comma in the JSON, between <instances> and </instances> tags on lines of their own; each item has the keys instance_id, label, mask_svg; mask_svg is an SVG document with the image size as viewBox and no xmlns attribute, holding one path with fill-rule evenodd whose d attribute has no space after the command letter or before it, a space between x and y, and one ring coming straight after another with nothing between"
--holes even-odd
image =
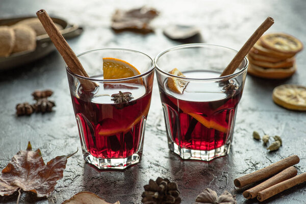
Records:
<instances>
[{"instance_id":1,"label":"rearmost of the three cinnamon sticks lying on the table","mask_svg":"<svg viewBox=\"0 0 306 204\"><path fill-rule=\"evenodd\" d=\"M293 155L281 161L278 161L274 164L271 164L270 166L267 166L263 169L260 169L258 171L255 171L253 173L250 173L244 176L241 176L238 179L234 180L234 184L236 187L241 188L251 183L266 179L267 177L274 175L278 173L279 171L282 171L297 163L299 163L299 158L297 155Z\"/></svg>"}]
</instances>

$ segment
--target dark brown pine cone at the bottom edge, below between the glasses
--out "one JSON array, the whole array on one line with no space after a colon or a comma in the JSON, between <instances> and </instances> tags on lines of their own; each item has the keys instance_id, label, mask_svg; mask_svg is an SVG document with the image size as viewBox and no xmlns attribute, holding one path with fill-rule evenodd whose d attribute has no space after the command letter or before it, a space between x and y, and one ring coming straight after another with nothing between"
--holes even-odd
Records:
<instances>
[{"instance_id":1,"label":"dark brown pine cone at the bottom edge, below between the glasses","mask_svg":"<svg viewBox=\"0 0 306 204\"><path fill-rule=\"evenodd\" d=\"M180 191L175 182L158 177L156 181L150 180L144 186L141 202L144 204L179 204L181 203Z\"/></svg>"}]
</instances>

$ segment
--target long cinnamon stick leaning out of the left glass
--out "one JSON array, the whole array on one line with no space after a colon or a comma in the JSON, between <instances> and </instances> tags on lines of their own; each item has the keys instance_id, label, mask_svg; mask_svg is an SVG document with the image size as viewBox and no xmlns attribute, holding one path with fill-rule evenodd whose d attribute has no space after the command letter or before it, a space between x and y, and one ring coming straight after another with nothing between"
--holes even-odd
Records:
<instances>
[{"instance_id":1,"label":"long cinnamon stick leaning out of the left glass","mask_svg":"<svg viewBox=\"0 0 306 204\"><path fill-rule=\"evenodd\" d=\"M61 32L57 29L53 20L49 17L47 12L44 9L41 9L36 12L36 15L40 20L41 24L43 25L43 28L45 29L46 33L57 48L58 52L65 60L69 69L75 74L81 75L83 77L89 77L85 69L83 68L81 62L79 61L78 57L74 54L73 50L68 45ZM95 83L89 80L80 79L80 82L84 91L93 91L97 86Z\"/></svg>"}]
</instances>

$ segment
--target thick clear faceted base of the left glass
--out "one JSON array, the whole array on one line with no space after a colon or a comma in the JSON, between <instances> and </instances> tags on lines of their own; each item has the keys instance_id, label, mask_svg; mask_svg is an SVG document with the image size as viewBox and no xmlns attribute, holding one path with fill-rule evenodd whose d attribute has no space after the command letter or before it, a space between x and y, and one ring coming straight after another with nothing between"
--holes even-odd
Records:
<instances>
[{"instance_id":1,"label":"thick clear faceted base of the left glass","mask_svg":"<svg viewBox=\"0 0 306 204\"><path fill-rule=\"evenodd\" d=\"M99 169L125 169L133 164L140 162L141 155L133 154L127 158L120 159L101 159L90 155L83 150L84 160Z\"/></svg>"}]
</instances>

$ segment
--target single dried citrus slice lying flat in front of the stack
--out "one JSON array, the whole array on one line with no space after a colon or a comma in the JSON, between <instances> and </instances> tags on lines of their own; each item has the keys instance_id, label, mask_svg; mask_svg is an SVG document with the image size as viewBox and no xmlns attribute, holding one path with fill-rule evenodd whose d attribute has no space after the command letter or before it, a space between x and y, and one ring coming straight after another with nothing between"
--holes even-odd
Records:
<instances>
[{"instance_id":1,"label":"single dried citrus slice lying flat in front of the stack","mask_svg":"<svg viewBox=\"0 0 306 204\"><path fill-rule=\"evenodd\" d=\"M273 90L274 103L291 110L306 111L306 87L285 84Z\"/></svg>"}]
</instances>

